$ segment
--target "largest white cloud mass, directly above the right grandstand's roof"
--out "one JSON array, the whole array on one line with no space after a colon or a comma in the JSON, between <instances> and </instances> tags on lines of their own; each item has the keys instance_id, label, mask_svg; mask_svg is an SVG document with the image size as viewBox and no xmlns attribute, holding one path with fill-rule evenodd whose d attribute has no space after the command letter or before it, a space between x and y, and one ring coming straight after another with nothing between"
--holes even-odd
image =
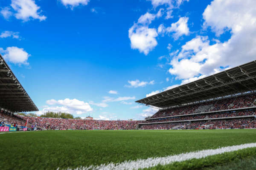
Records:
<instances>
[{"instance_id":1,"label":"largest white cloud mass, directly above the right grandstand's roof","mask_svg":"<svg viewBox=\"0 0 256 170\"><path fill-rule=\"evenodd\" d=\"M186 42L173 57L169 72L179 79L208 76L223 68L250 62L256 56L256 3L254 0L214 0L203 13L204 28L216 36L230 31L225 42L210 45L208 37Z\"/></svg>"}]
</instances>

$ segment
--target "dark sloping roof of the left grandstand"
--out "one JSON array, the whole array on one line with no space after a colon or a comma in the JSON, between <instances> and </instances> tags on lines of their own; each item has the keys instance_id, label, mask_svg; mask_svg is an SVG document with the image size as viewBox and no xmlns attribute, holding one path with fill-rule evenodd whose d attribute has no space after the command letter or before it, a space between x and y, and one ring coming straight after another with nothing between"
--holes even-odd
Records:
<instances>
[{"instance_id":1,"label":"dark sloping roof of the left grandstand","mask_svg":"<svg viewBox=\"0 0 256 170\"><path fill-rule=\"evenodd\" d=\"M38 111L25 89L0 55L0 109L10 112Z\"/></svg>"}]
</instances>

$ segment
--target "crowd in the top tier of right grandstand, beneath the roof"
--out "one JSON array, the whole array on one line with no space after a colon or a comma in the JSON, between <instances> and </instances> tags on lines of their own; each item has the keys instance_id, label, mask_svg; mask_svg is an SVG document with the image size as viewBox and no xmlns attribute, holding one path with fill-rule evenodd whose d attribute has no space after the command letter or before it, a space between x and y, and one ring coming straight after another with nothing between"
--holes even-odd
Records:
<instances>
[{"instance_id":1,"label":"crowd in the top tier of right grandstand, beneath the roof","mask_svg":"<svg viewBox=\"0 0 256 170\"><path fill-rule=\"evenodd\" d=\"M195 113L196 109L198 109L200 106L205 106L205 105L212 105L212 107L209 108L208 111L221 111L221 110L228 110L228 109L235 109L235 108L251 107L255 104L254 103L255 100L256 100L256 94L237 96L233 98L220 99L216 101L204 102L204 103L195 104L195 105L187 105L183 107L180 106L176 108L160 110L150 118L192 114L192 113Z\"/></svg>"}]
</instances>

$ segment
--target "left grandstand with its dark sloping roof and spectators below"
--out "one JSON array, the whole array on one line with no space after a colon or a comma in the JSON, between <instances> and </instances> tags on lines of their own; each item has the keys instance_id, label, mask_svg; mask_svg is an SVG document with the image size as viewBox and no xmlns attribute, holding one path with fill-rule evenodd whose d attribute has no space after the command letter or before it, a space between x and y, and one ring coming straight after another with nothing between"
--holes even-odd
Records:
<instances>
[{"instance_id":1,"label":"left grandstand with its dark sloping roof and spectators below","mask_svg":"<svg viewBox=\"0 0 256 170\"><path fill-rule=\"evenodd\" d=\"M0 124L24 126L25 121L16 112L38 111L25 89L0 55Z\"/></svg>"}]
</instances>

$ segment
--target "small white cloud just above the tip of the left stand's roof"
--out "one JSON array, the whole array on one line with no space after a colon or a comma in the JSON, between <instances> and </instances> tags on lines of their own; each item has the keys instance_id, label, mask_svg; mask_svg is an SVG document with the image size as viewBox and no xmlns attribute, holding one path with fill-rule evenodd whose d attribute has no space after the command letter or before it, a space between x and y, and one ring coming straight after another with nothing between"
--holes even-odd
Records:
<instances>
[{"instance_id":1,"label":"small white cloud just above the tip of the left stand's roof","mask_svg":"<svg viewBox=\"0 0 256 170\"><path fill-rule=\"evenodd\" d=\"M23 48L7 47L6 50L0 48L0 52L3 53L3 58L14 64L29 65L27 62L30 54L24 51Z\"/></svg>"}]
</instances>

